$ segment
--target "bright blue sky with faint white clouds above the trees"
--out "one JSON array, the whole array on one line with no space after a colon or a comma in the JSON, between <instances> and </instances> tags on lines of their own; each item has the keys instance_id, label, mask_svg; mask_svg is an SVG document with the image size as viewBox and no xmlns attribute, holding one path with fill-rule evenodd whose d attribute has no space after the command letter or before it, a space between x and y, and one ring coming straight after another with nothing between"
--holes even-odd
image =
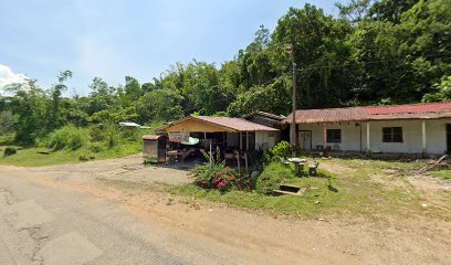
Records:
<instances>
[{"instance_id":1,"label":"bright blue sky with faint white clouds above the trees","mask_svg":"<svg viewBox=\"0 0 451 265\"><path fill-rule=\"evenodd\" d=\"M305 2L337 13L328 0L0 0L0 93L27 76L50 87L65 70L67 93L85 95L95 76L116 86L192 59L220 65Z\"/></svg>"}]
</instances>

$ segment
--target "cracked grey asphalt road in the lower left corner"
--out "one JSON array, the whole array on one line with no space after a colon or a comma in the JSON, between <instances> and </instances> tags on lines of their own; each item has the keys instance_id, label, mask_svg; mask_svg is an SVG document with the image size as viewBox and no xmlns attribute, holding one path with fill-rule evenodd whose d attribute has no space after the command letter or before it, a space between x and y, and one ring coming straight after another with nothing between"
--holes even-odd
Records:
<instances>
[{"instance_id":1,"label":"cracked grey asphalt road in the lower left corner","mask_svg":"<svg viewBox=\"0 0 451 265\"><path fill-rule=\"evenodd\" d=\"M0 264L261 263L83 192L0 171Z\"/></svg>"}]
</instances>

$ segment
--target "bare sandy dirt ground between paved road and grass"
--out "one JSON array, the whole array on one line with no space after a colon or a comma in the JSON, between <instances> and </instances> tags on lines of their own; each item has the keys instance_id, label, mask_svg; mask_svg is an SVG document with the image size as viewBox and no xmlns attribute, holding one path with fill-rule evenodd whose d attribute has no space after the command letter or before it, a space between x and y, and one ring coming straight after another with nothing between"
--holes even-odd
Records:
<instances>
[{"instance_id":1,"label":"bare sandy dirt ground between paved road and grass","mask_svg":"<svg viewBox=\"0 0 451 265\"><path fill-rule=\"evenodd\" d=\"M327 161L322 167L334 172L354 170ZM260 257L268 256L271 263L450 264L451 261L451 222L433 216L415 214L402 220L391 216L371 220L324 216L303 220L237 210L157 191L122 190L96 180L189 182L186 170L143 166L139 156L43 168L0 167L2 171L40 184L107 198L130 214L156 221L180 233L213 239ZM384 178L373 178L384 182ZM426 206L437 204L443 211L451 211L451 205L441 198L450 194L450 186L423 176L408 176L407 180L399 180L397 184L419 190Z\"/></svg>"}]
</instances>

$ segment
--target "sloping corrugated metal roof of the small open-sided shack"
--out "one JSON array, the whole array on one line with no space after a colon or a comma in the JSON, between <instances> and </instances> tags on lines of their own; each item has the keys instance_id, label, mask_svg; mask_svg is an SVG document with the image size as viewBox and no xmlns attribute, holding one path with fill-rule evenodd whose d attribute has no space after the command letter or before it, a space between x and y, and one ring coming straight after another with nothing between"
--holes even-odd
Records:
<instances>
[{"instance_id":1,"label":"sloping corrugated metal roof of the small open-sided shack","mask_svg":"<svg viewBox=\"0 0 451 265\"><path fill-rule=\"evenodd\" d=\"M191 116L210 124L220 125L239 131L276 131L279 129L271 128L261 124L255 124L242 118L229 117L211 117L211 116Z\"/></svg>"}]
</instances>

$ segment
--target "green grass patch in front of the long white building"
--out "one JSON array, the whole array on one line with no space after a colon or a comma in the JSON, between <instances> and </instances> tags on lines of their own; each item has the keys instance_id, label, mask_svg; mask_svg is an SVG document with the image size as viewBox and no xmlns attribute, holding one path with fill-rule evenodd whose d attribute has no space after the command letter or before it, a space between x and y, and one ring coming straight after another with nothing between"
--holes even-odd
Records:
<instances>
[{"instance_id":1,"label":"green grass patch in front of the long white building","mask_svg":"<svg viewBox=\"0 0 451 265\"><path fill-rule=\"evenodd\" d=\"M361 160L360 160L361 161ZM308 188L302 197L266 195L264 193L230 191L221 193L217 190L203 190L193 184L172 187L171 191L178 194L227 203L229 205L252 210L265 210L277 213L297 214L305 218L319 218L328 214L361 214L377 215L378 213L403 214L405 209L412 209L419 204L415 194L406 194L401 189L386 189L382 184L370 181L370 173L381 173L384 162L359 165L360 161L338 160L338 163L350 163L356 171L348 173L332 173L318 170L322 177L295 178L292 168L277 163L266 167L275 179L285 177L282 182ZM409 168L402 165L402 168ZM265 172L263 172L265 173ZM259 188L258 188L259 189Z\"/></svg>"}]
</instances>

